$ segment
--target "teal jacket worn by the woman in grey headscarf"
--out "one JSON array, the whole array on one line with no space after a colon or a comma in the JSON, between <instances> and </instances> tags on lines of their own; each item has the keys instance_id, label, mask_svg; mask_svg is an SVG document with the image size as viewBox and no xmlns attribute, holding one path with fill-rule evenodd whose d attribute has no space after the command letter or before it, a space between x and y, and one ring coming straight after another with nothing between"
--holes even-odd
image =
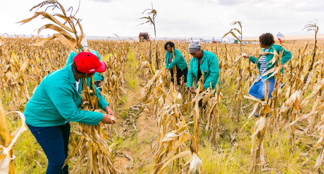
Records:
<instances>
[{"instance_id":1,"label":"teal jacket worn by the woman in grey headscarf","mask_svg":"<svg viewBox=\"0 0 324 174\"><path fill-rule=\"evenodd\" d=\"M193 79L195 79L195 88L197 88L197 70L198 70L198 59L192 57L190 60L190 67L187 76L187 88L192 87ZM202 71L204 84L203 87L207 89L212 86L215 89L219 79L219 68L218 59L214 53L203 50L203 58L200 64L200 70ZM221 86L221 83L219 83ZM216 92L216 90L215 90Z\"/></svg>"}]
</instances>

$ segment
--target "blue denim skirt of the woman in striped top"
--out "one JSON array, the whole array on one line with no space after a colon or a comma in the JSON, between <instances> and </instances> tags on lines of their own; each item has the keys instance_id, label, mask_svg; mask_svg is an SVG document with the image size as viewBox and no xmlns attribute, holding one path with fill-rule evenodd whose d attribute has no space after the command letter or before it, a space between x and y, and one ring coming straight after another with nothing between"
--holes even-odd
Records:
<instances>
[{"instance_id":1,"label":"blue denim skirt of the woman in striped top","mask_svg":"<svg viewBox=\"0 0 324 174\"><path fill-rule=\"evenodd\" d=\"M265 95L265 81L268 81L268 90L269 90L269 94L268 94L268 99L272 98L272 91L274 88L274 82L275 79L267 79L264 80L266 77L261 77L261 75L259 75L253 82L252 86L249 89L249 94L255 98L259 98L264 100L264 95ZM281 85L279 85L279 87L281 87Z\"/></svg>"}]
</instances>

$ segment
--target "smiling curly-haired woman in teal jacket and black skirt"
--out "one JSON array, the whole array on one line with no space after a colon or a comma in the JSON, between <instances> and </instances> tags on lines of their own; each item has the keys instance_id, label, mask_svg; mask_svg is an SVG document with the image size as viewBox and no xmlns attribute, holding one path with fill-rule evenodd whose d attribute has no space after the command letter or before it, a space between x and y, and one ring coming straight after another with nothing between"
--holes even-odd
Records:
<instances>
[{"instance_id":1,"label":"smiling curly-haired woman in teal jacket and black skirt","mask_svg":"<svg viewBox=\"0 0 324 174\"><path fill-rule=\"evenodd\" d=\"M173 52L174 49L174 59ZM176 66L177 69L177 84L180 85L180 78L184 76L184 83L187 83L188 67L186 60L182 57L179 50L174 48L174 43L169 41L165 43L164 49L167 50L165 54L165 67L171 72L171 82L174 83L172 68ZM173 59L173 60L172 60Z\"/></svg>"}]
</instances>

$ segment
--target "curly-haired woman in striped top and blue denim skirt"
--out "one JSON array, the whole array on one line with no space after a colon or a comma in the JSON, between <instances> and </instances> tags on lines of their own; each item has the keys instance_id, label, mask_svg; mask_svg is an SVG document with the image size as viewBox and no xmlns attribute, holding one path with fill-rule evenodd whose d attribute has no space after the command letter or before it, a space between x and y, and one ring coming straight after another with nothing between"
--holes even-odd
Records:
<instances>
[{"instance_id":1,"label":"curly-haired woman in striped top and blue denim skirt","mask_svg":"<svg viewBox=\"0 0 324 174\"><path fill-rule=\"evenodd\" d=\"M255 79L252 86L249 89L249 94L253 97L259 98L261 100L264 100L265 95L265 81L268 81L268 99L272 98L272 91L274 88L274 76L272 76L272 73L264 75L267 71L272 69L274 67L274 63L272 64L272 58L274 50L278 54L284 49L280 45L274 45L274 37L271 33L264 33L259 37L260 47L263 48L263 52L269 52L268 54L261 55L259 58L255 58L253 56L244 55L244 58L249 58L249 61L251 61L254 64L257 64L257 67L260 71L260 75ZM288 62L291 59L291 52L284 49L283 55L281 58L281 64L284 64ZM284 74L284 68L281 69L281 73ZM269 78L268 78L269 77ZM267 79L268 78L268 79ZM267 79L267 80L266 80Z\"/></svg>"}]
</instances>

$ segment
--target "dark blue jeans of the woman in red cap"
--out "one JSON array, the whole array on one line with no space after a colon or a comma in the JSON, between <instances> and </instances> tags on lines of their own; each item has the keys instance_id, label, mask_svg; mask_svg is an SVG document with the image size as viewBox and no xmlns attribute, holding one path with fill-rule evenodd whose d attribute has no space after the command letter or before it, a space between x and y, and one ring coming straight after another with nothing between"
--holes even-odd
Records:
<instances>
[{"instance_id":1,"label":"dark blue jeans of the woman in red cap","mask_svg":"<svg viewBox=\"0 0 324 174\"><path fill-rule=\"evenodd\" d=\"M65 125L48 127L36 127L27 123L26 125L41 145L48 159L46 174L68 174L69 166L66 164L63 168L63 165L67 158L70 124L65 123Z\"/></svg>"}]
</instances>

